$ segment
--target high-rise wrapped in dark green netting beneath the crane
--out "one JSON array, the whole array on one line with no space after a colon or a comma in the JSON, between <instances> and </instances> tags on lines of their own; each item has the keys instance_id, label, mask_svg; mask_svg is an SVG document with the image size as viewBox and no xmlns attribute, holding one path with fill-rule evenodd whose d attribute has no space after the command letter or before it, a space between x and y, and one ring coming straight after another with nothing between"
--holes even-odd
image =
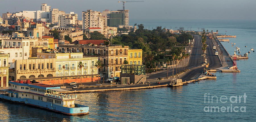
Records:
<instances>
[{"instance_id":1,"label":"high-rise wrapped in dark green netting beneath the crane","mask_svg":"<svg viewBox=\"0 0 256 122\"><path fill-rule=\"evenodd\" d=\"M102 16L107 16L107 26L117 27L118 25L129 25L129 10L104 10Z\"/></svg>"}]
</instances>

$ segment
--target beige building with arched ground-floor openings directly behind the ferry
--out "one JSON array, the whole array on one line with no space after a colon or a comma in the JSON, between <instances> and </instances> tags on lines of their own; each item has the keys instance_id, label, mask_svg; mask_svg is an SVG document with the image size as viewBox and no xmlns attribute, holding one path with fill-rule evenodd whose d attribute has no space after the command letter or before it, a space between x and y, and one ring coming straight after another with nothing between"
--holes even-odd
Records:
<instances>
[{"instance_id":1,"label":"beige building with arched ground-floor openings directly behind the ferry","mask_svg":"<svg viewBox=\"0 0 256 122\"><path fill-rule=\"evenodd\" d=\"M16 60L14 79L55 77L55 58Z\"/></svg>"}]
</instances>

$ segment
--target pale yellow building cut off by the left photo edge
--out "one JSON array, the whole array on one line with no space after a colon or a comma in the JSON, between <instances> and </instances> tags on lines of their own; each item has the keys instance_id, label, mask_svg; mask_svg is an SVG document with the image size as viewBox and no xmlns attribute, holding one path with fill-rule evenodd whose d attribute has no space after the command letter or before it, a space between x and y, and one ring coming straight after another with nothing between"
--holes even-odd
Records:
<instances>
[{"instance_id":1,"label":"pale yellow building cut off by the left photo edge","mask_svg":"<svg viewBox=\"0 0 256 122\"><path fill-rule=\"evenodd\" d=\"M8 87L8 54L0 54L0 87Z\"/></svg>"}]
</instances>

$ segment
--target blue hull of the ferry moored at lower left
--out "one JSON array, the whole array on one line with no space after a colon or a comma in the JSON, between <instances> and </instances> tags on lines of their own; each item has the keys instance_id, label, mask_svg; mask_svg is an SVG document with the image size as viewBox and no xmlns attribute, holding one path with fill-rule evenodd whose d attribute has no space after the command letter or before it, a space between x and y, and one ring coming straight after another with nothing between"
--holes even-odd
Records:
<instances>
[{"instance_id":1,"label":"blue hull of the ferry moored at lower left","mask_svg":"<svg viewBox=\"0 0 256 122\"><path fill-rule=\"evenodd\" d=\"M3 94L0 94L0 98L4 99L4 100L8 100L8 101L12 101L12 102L17 102L17 103L22 103L22 104L27 104L30 106L35 106L35 107L39 107L39 108L43 108L46 110L50 110L53 112L57 112L57 113L63 113L66 115L81 115L81 114L88 114L89 112L89 107L88 106L83 106L80 104L75 104L75 108L68 108L68 107L63 107L63 106L58 106L55 104L51 104L48 102L42 102L39 100L33 100L33 99L29 99L29 98L13 98L13 97L9 97L9 96L5 96Z\"/></svg>"}]
</instances>

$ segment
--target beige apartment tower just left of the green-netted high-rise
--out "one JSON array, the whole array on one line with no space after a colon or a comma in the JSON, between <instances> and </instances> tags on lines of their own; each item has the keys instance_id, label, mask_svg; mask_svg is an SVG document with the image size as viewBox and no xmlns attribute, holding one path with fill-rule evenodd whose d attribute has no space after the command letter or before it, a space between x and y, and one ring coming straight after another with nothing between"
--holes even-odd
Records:
<instances>
[{"instance_id":1,"label":"beige apartment tower just left of the green-netted high-rise","mask_svg":"<svg viewBox=\"0 0 256 122\"><path fill-rule=\"evenodd\" d=\"M106 16L102 12L87 10L82 12L82 29L86 28L104 28L107 26Z\"/></svg>"}]
</instances>

